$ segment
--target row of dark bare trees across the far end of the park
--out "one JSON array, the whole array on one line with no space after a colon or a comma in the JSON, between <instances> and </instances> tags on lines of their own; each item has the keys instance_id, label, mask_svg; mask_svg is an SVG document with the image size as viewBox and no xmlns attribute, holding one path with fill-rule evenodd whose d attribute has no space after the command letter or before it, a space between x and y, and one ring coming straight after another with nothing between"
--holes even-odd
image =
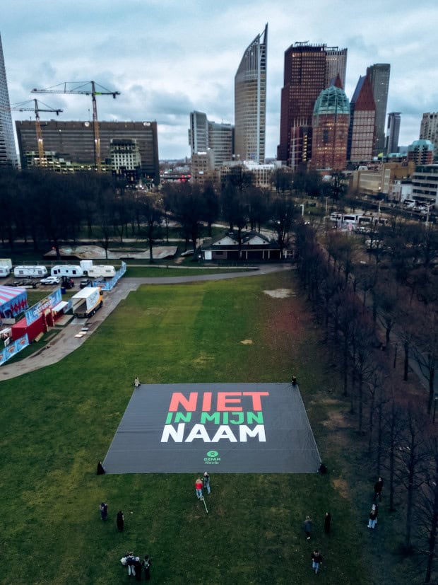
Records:
<instances>
[{"instance_id":1,"label":"row of dark bare trees across the far end of the park","mask_svg":"<svg viewBox=\"0 0 438 585\"><path fill-rule=\"evenodd\" d=\"M146 238L153 246L169 241L170 221L177 235L196 243L211 236L215 221L226 222L237 232L261 230L269 225L283 249L288 246L297 208L289 193L271 193L251 183L251 174L239 170L221 185L165 184L161 190L128 188L124 180L96 173L59 175L42 170L0 172L0 237L13 248L18 238L32 241L35 250L49 241L57 250L61 242L87 237L108 249L114 238Z\"/></svg>"}]
</instances>

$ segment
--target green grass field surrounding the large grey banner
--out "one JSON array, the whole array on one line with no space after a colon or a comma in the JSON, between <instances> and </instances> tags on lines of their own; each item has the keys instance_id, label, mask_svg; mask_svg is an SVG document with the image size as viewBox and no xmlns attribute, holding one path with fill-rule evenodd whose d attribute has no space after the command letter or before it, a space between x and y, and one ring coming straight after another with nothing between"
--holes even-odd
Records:
<instances>
[{"instance_id":1,"label":"green grass field surrounding the large grey banner","mask_svg":"<svg viewBox=\"0 0 438 585\"><path fill-rule=\"evenodd\" d=\"M264 293L295 286L292 272L142 286L59 364L1 382L1 583L123 583L119 560L129 550L148 552L156 583L374 582L367 562L381 541L367 533L365 516L363 526L357 521L360 482L348 489L355 453L328 424L329 411L345 407L327 386L318 331L299 296ZM196 473L95 475L134 376L143 383L276 382L292 373L328 475L212 473L208 515L195 497ZM115 528L118 509L124 533ZM327 509L331 535L323 531ZM307 514L310 543L302 531ZM370 536L375 542L367 545ZM315 546L324 555L318 576ZM403 583L395 575L376 582Z\"/></svg>"}]
</instances>

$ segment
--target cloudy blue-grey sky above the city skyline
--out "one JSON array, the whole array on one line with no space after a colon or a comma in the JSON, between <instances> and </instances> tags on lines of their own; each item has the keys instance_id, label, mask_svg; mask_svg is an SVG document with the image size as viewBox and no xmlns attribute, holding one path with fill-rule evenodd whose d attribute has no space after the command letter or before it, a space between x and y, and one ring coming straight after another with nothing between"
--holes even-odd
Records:
<instances>
[{"instance_id":1,"label":"cloudy blue-grey sky above the city skyline","mask_svg":"<svg viewBox=\"0 0 438 585\"><path fill-rule=\"evenodd\" d=\"M97 98L99 120L156 120L160 159L183 158L191 111L234 123L234 76L266 23L266 156L279 139L284 52L297 41L348 48L348 98L368 65L390 63L400 144L418 139L422 112L438 111L437 0L3 0L11 104L37 97L64 109L59 120L89 120L89 96L30 91L93 80L121 93Z\"/></svg>"}]
</instances>

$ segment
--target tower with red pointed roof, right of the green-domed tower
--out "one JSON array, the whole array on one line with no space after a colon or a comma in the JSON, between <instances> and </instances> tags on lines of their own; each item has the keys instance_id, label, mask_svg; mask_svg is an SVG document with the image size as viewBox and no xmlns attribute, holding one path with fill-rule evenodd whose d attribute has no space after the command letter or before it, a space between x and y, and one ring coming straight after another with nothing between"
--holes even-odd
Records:
<instances>
[{"instance_id":1,"label":"tower with red pointed roof, right of the green-domed tower","mask_svg":"<svg viewBox=\"0 0 438 585\"><path fill-rule=\"evenodd\" d=\"M350 128L348 129L348 161L372 161L376 141L376 104L369 77L357 81L350 102Z\"/></svg>"}]
</instances>

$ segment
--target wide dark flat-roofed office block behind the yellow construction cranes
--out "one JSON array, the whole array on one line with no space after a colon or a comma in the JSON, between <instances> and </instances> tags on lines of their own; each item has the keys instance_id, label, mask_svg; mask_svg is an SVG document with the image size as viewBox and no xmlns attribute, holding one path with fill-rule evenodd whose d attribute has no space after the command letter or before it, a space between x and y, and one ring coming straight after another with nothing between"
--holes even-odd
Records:
<instances>
[{"instance_id":1,"label":"wide dark flat-roofed office block behind the yellow construction cranes","mask_svg":"<svg viewBox=\"0 0 438 585\"><path fill-rule=\"evenodd\" d=\"M37 152L35 123L28 120L16 122L18 148L23 167L29 161L26 153ZM92 122L41 122L45 151L54 152L58 158L69 161L76 170L81 166L94 168L94 134ZM102 168L112 169L112 141L135 141L141 158L142 178L160 182L158 161L157 122L99 122L100 154Z\"/></svg>"}]
</instances>

